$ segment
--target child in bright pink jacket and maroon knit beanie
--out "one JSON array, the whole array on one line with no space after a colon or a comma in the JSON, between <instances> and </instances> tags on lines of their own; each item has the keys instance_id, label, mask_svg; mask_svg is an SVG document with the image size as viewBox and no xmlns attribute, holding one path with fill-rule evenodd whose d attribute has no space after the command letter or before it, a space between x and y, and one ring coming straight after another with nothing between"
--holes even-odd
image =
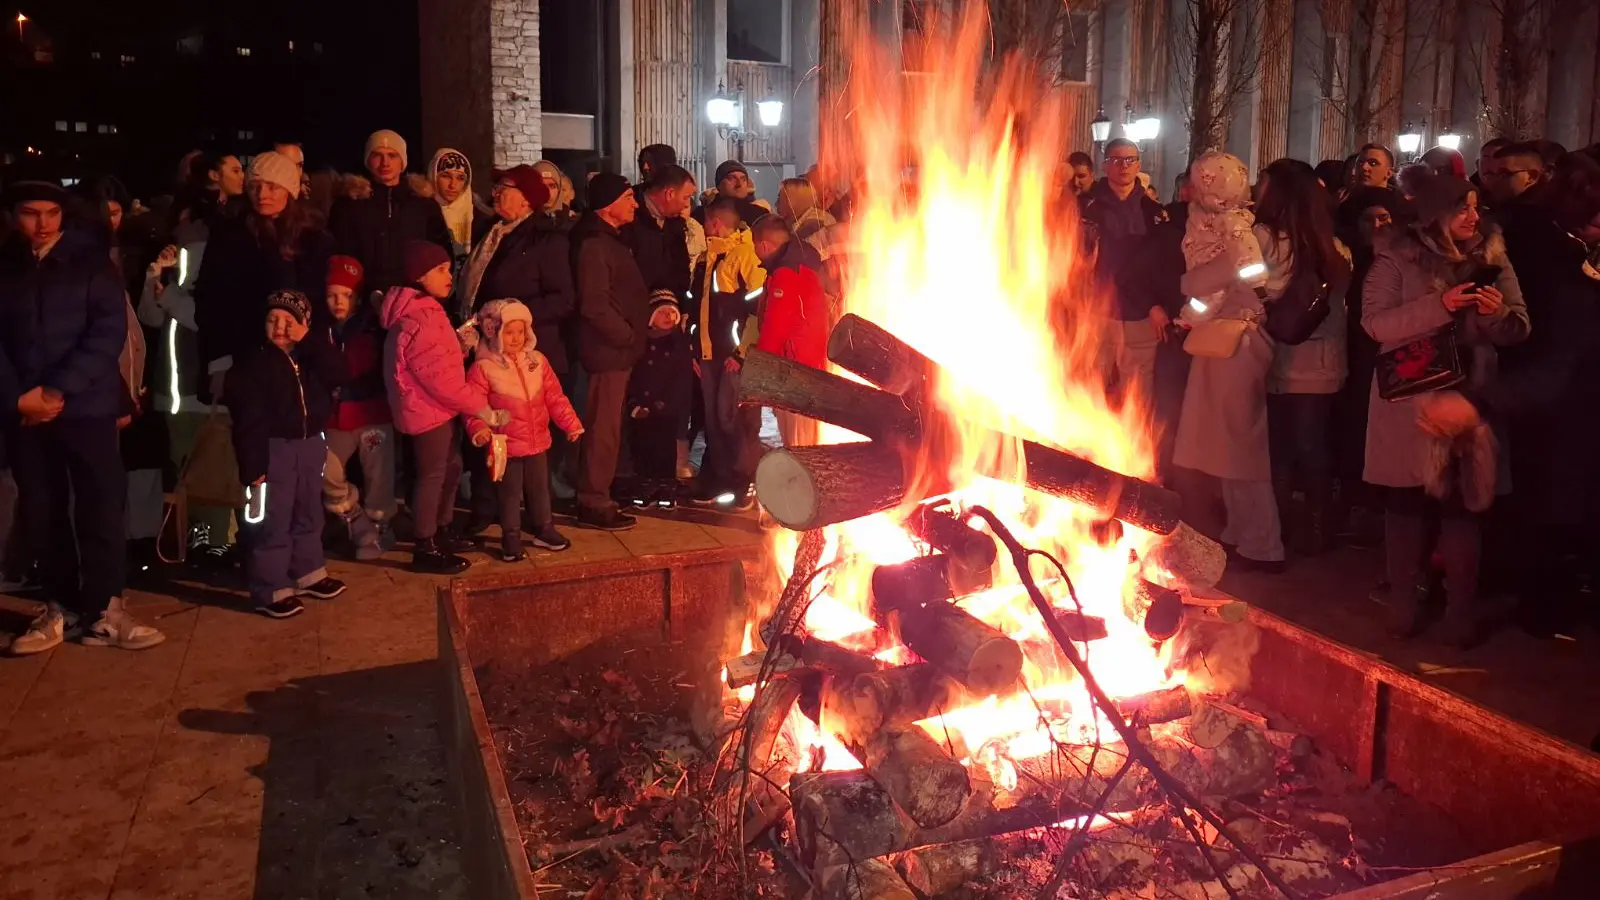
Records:
<instances>
[{"instance_id":1,"label":"child in bright pink jacket and maroon knit beanie","mask_svg":"<svg viewBox=\"0 0 1600 900\"><path fill-rule=\"evenodd\" d=\"M467 388L461 341L440 306L450 296L450 255L437 243L413 240L405 247L403 275L406 283L384 295L379 320L389 330L384 341L389 408L395 431L411 436L416 456L411 569L453 575L469 565L456 551L470 546L448 528L461 480L456 416L477 415L499 423L504 413L486 408L483 397Z\"/></svg>"}]
</instances>

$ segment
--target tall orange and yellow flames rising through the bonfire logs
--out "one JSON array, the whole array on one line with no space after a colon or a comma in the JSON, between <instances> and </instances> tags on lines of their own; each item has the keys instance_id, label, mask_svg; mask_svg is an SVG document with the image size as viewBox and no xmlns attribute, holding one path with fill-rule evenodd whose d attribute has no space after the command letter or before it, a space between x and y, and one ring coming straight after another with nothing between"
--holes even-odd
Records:
<instances>
[{"instance_id":1,"label":"tall orange and yellow flames rising through the bonfire logs","mask_svg":"<svg viewBox=\"0 0 1600 900\"><path fill-rule=\"evenodd\" d=\"M872 46L856 53L850 135L838 144L861 171L843 307L917 348L947 376L933 386L934 434L925 434L907 472L906 506L827 528L822 559L830 569L813 585L805 626L862 645L854 641L874 634L872 570L923 552L901 527L904 514L925 500L926 485L955 485L947 496L957 508L987 506L1024 544L1064 562L1083 610L1106 620L1109 636L1086 655L1112 697L1170 687L1181 674L1168 673L1166 649L1122 607L1130 551L1144 551L1152 536L1125 528L1106 540L1091 530L1094 511L1022 487L1019 437L1139 477L1154 474L1155 450L1144 399L1114 399L1104 388L1102 348L1117 323L1093 283L1075 210L1056 200L1072 146L1061 98L1016 61L992 64L984 11L968 8L958 27L930 35L936 72L904 75L885 66L890 54ZM858 437L822 428L824 442L850 439ZM771 546L787 569L797 535L776 532ZM1054 605L1074 609L1054 567L1034 575ZM1005 559L995 583L960 604L1022 644L1027 690L982 698L923 727L939 740L958 735L970 762L1040 756L1051 737L1082 743L1109 735ZM904 647L864 644L883 660L914 658Z\"/></svg>"}]
</instances>

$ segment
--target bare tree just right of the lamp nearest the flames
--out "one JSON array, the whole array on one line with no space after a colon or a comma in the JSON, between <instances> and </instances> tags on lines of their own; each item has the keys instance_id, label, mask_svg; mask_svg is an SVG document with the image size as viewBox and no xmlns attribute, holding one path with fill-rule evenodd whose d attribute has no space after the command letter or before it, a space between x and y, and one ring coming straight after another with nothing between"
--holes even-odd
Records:
<instances>
[{"instance_id":1,"label":"bare tree just right of the lamp nearest the flames","mask_svg":"<svg viewBox=\"0 0 1600 900\"><path fill-rule=\"evenodd\" d=\"M1267 35L1258 0L1184 0L1168 43L1189 127L1189 159L1222 147L1237 101L1261 80Z\"/></svg>"}]
</instances>

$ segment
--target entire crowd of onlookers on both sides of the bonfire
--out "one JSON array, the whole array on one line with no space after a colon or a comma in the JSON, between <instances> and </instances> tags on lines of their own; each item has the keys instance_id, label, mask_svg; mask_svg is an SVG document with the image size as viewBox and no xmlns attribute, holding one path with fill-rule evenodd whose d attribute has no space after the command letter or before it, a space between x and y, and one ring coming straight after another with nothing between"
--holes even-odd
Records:
<instances>
[{"instance_id":1,"label":"entire crowd of onlookers on both sides of the bonfire","mask_svg":"<svg viewBox=\"0 0 1600 900\"><path fill-rule=\"evenodd\" d=\"M123 604L126 548L194 535L283 618L346 589L330 520L370 560L405 519L411 567L454 573L491 524L506 562L566 549L563 503L602 530L635 504L752 504L742 360L826 365L848 192L813 170L768 205L736 160L702 192L662 144L637 184L541 160L488 199L450 147L410 173L394 131L365 165L192 154L150 208L114 181L6 189L0 562L48 601L13 653L158 644ZM1166 205L1141 168L1125 139L1099 176L1074 152L1061 205L1109 299L1107 386L1150 410L1186 517L1235 570L1381 543L1400 634L1443 599L1477 644L1498 596L1566 628L1600 500L1600 151L1488 141L1470 178L1443 147L1259 173L1208 152ZM174 509L195 527L174 535Z\"/></svg>"}]
</instances>

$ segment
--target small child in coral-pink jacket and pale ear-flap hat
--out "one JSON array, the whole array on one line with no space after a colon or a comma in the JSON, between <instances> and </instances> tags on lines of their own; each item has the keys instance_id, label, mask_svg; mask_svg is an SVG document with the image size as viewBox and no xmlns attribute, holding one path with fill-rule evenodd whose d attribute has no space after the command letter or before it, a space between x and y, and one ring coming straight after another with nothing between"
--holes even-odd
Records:
<instances>
[{"instance_id":1,"label":"small child in coral-pink jacket and pale ear-flap hat","mask_svg":"<svg viewBox=\"0 0 1600 900\"><path fill-rule=\"evenodd\" d=\"M550 519L550 420L576 442L584 434L578 412L562 392L562 383L550 360L533 349L533 312L515 299L491 299L478 317L498 320L498 330L485 330L477 362L467 373L467 386L477 392L478 405L490 405L510 416L499 429L506 439L506 474L496 496L501 519L501 559L518 562L522 551L522 501L526 498L533 519L533 546L563 551L571 544ZM491 423L469 416L467 432L477 447L496 437Z\"/></svg>"}]
</instances>

